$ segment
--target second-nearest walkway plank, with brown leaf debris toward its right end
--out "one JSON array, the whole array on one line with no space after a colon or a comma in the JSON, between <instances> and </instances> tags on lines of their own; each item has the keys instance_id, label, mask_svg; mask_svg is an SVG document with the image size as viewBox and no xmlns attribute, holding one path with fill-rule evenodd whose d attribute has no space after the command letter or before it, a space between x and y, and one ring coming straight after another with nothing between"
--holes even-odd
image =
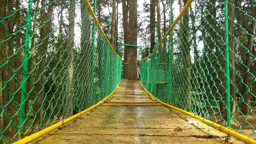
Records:
<instances>
[{"instance_id":1,"label":"second-nearest walkway plank, with brown leaf debris toward its right end","mask_svg":"<svg viewBox=\"0 0 256 144\"><path fill-rule=\"evenodd\" d=\"M208 132L182 129L180 127L174 128L98 128L98 127L73 127L62 129L58 134L94 134L94 135L144 135L144 136L192 136L196 138L221 138L226 136L222 133L216 133L215 130L208 130ZM217 135L215 135L217 134Z\"/></svg>"}]
</instances>

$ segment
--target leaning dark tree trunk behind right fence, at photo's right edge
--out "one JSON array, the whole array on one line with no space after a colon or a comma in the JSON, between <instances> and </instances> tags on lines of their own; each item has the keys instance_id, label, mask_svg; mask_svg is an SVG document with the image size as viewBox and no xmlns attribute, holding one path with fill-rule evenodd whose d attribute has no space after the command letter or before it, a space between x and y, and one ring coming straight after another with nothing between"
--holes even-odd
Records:
<instances>
[{"instance_id":1,"label":"leaning dark tree trunk behind right fence, at photo's right edge","mask_svg":"<svg viewBox=\"0 0 256 144\"><path fill-rule=\"evenodd\" d=\"M255 7L253 8L252 11L255 12ZM247 42L247 52L245 55L245 61L244 61L244 70L242 72L243 74L243 87L242 87L242 92L241 95L244 98L244 102L242 102L242 107L241 107L241 112L246 115L249 112L250 109L250 94L248 91L250 91L249 87L249 80L250 80L250 63L251 63L251 53L252 53L252 48L253 48L253 41L254 41L254 35L255 35L255 30L256 30L256 14L254 14L254 21L250 25L250 30L248 30L248 42Z\"/></svg>"}]
</instances>

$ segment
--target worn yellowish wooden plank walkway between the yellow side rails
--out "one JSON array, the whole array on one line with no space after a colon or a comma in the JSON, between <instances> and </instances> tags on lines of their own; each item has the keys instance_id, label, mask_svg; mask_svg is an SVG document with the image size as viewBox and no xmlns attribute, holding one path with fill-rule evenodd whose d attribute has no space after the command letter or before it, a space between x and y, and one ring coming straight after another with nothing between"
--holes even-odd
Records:
<instances>
[{"instance_id":1,"label":"worn yellowish wooden plank walkway between the yellow side rails","mask_svg":"<svg viewBox=\"0 0 256 144\"><path fill-rule=\"evenodd\" d=\"M138 82L122 80L103 104L32 143L230 144L226 134L188 120L195 119L153 100Z\"/></svg>"}]
</instances>

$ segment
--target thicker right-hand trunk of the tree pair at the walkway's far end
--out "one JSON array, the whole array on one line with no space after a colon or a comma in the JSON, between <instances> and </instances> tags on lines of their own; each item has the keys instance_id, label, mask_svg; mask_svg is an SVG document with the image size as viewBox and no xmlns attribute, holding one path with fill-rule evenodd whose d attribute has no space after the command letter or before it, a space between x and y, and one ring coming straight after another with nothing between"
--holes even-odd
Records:
<instances>
[{"instance_id":1,"label":"thicker right-hand trunk of the tree pair at the walkway's far end","mask_svg":"<svg viewBox=\"0 0 256 144\"><path fill-rule=\"evenodd\" d=\"M137 45L137 0L130 0L129 43ZM137 48L128 47L128 80L137 80Z\"/></svg>"}]
</instances>

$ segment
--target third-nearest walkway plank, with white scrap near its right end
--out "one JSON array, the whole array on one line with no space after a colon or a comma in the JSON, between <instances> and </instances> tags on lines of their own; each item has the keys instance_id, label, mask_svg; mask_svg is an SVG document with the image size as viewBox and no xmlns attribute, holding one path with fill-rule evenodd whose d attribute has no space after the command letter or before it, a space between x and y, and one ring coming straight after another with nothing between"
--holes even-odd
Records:
<instances>
[{"instance_id":1,"label":"third-nearest walkway plank, with white scrap near its right end","mask_svg":"<svg viewBox=\"0 0 256 144\"><path fill-rule=\"evenodd\" d=\"M189 120L193 120L192 118ZM181 118L146 118L138 114L137 119L132 118L106 118L106 119L94 119L92 117L78 120L76 124L72 124L73 127L115 127L115 128L174 128L180 126L185 129L213 129L212 127L203 124L202 122L196 120L198 123L196 126L192 124L187 124L187 119Z\"/></svg>"}]
</instances>

